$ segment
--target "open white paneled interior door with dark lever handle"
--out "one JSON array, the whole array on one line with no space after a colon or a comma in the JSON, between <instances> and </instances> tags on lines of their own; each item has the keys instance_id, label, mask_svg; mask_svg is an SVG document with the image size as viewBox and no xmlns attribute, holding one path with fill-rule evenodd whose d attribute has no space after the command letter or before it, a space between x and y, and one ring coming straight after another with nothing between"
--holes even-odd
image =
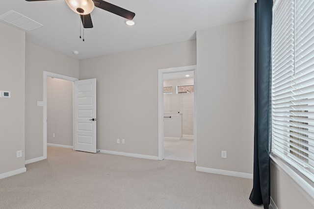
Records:
<instances>
[{"instance_id":1,"label":"open white paneled interior door with dark lever handle","mask_svg":"<svg viewBox=\"0 0 314 209\"><path fill-rule=\"evenodd\" d=\"M96 78L74 82L74 150L96 153Z\"/></svg>"}]
</instances>

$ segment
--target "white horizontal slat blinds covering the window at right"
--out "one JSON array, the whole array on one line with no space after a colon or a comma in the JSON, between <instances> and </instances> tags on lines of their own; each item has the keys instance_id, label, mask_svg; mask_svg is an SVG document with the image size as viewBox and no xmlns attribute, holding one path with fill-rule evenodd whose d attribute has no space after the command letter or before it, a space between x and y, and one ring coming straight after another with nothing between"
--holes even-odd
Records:
<instances>
[{"instance_id":1,"label":"white horizontal slat blinds covering the window at right","mask_svg":"<svg viewBox=\"0 0 314 209\"><path fill-rule=\"evenodd\" d=\"M271 151L314 182L314 0L276 0Z\"/></svg>"}]
</instances>

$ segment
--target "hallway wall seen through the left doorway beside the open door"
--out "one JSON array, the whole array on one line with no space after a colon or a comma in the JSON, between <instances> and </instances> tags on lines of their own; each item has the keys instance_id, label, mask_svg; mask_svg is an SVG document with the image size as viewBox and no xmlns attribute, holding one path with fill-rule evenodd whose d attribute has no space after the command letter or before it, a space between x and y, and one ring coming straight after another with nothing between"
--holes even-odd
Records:
<instances>
[{"instance_id":1,"label":"hallway wall seen through the left doorway beside the open door","mask_svg":"<svg viewBox=\"0 0 314 209\"><path fill-rule=\"evenodd\" d=\"M47 142L73 146L72 81L47 78Z\"/></svg>"}]
</instances>

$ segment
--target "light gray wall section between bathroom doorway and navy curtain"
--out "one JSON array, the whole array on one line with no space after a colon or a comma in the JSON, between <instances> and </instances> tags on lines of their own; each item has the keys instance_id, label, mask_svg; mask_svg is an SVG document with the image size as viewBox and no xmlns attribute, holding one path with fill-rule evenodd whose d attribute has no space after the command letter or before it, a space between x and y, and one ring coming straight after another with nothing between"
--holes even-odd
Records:
<instances>
[{"instance_id":1,"label":"light gray wall section between bathroom doorway and navy curtain","mask_svg":"<svg viewBox=\"0 0 314 209\"><path fill-rule=\"evenodd\" d=\"M197 31L196 83L197 165L252 174L253 20Z\"/></svg>"}]
</instances>

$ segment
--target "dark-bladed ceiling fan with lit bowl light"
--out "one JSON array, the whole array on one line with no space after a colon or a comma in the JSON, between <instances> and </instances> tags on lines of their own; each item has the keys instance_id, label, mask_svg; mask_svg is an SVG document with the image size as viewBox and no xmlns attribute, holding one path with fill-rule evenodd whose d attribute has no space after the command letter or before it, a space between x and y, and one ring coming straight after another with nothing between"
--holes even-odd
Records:
<instances>
[{"instance_id":1,"label":"dark-bladed ceiling fan with lit bowl light","mask_svg":"<svg viewBox=\"0 0 314 209\"><path fill-rule=\"evenodd\" d=\"M26 0L26 1L43 1L43 0ZM134 12L106 2L104 0L65 0L72 11L80 15L80 19L84 28L92 28L92 18L90 13L94 7L104 9L113 14L132 20L135 16Z\"/></svg>"}]
</instances>

